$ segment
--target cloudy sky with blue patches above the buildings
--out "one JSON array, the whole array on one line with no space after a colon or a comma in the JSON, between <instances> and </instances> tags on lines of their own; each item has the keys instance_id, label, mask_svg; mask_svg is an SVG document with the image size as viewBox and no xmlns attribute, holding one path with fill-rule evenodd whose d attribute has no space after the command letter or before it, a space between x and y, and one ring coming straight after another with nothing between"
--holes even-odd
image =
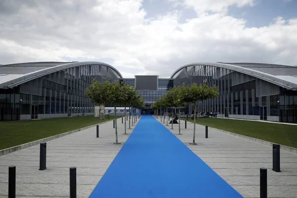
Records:
<instances>
[{"instance_id":1,"label":"cloudy sky with blue patches above the buildings","mask_svg":"<svg viewBox=\"0 0 297 198\"><path fill-rule=\"evenodd\" d=\"M194 62L297 65L297 0L0 0L0 64L101 61L125 78Z\"/></svg>"}]
</instances>

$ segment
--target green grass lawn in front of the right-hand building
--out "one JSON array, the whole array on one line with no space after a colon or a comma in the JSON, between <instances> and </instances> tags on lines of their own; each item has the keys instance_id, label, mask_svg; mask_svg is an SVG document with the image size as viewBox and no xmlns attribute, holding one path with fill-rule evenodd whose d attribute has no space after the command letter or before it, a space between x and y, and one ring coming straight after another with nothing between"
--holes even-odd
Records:
<instances>
[{"instance_id":1,"label":"green grass lawn in front of the right-hand building","mask_svg":"<svg viewBox=\"0 0 297 198\"><path fill-rule=\"evenodd\" d=\"M193 122L194 120L189 119ZM221 118L199 118L197 124L297 148L297 125L233 120Z\"/></svg>"}]
</instances>

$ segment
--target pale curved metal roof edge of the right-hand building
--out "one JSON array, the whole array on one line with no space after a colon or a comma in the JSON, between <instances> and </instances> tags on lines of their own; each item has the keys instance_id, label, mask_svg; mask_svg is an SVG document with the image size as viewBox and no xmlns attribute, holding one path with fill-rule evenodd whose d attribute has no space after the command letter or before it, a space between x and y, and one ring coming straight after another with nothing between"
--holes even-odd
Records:
<instances>
[{"instance_id":1,"label":"pale curved metal roof edge of the right-hand building","mask_svg":"<svg viewBox=\"0 0 297 198\"><path fill-rule=\"evenodd\" d=\"M260 65L261 63L255 63L255 64ZM283 78L282 76L274 76L274 75L267 74L264 72L249 69L247 67L226 64L226 63L197 62L197 63L187 64L187 65L184 65L184 66L178 68L177 70L175 70L175 72L173 72L173 74L170 76L170 78L176 78L178 76L178 74L180 74L180 72L184 68L190 67L190 66L195 66L195 65L214 66L214 67L221 67L224 69L230 69L233 71L237 71L240 73L244 73L244 74L262 79L264 81L276 84L278 86L281 86L281 87L284 87L287 89L297 90L297 79L295 79L295 78L294 78L294 82L293 82L293 78ZM264 65L267 65L267 64L264 64ZM293 77L293 76L288 76L288 77ZM288 81L288 79L290 79L290 81Z\"/></svg>"}]
</instances>

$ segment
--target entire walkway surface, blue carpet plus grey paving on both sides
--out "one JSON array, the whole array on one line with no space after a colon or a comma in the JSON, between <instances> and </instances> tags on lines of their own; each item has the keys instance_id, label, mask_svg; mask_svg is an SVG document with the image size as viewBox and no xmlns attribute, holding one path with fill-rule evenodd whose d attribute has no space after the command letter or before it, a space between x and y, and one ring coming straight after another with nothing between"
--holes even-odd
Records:
<instances>
[{"instance_id":1,"label":"entire walkway surface, blue carpet plus grey paving on both sides","mask_svg":"<svg viewBox=\"0 0 297 198\"><path fill-rule=\"evenodd\" d=\"M245 198L259 198L261 167L268 170L268 197L297 198L297 154L281 150L282 172L276 173L271 170L272 148L268 146L212 129L208 129L209 138L205 139L204 126L200 125L197 125L196 131L198 145L190 146L187 143L193 140L193 123L188 122L188 129L185 129L182 121L183 135L177 136L177 124L172 130L171 125L165 126L166 123L153 119L148 119L146 122L149 124L146 125L145 122L142 124L145 121L143 117L136 127L132 126L135 130L124 147L112 145L115 140L112 121L100 124L100 138L96 138L96 127L93 127L49 141L47 169L44 171L38 170L39 146L0 156L0 198L7 198L10 165L16 165L17 198L69 198L71 166L77 167L78 198L88 198L92 192L93 198L100 194L99 191L104 186L109 186L109 189L102 189L104 195L112 197L117 194L118 198L127 197L130 190L133 190L134 194L128 197L132 198L144 192L150 193L150 197L156 197L154 193L159 193L170 198L170 189L176 193L172 197L178 197L180 194L177 192L182 191L183 194L179 197L187 197L194 190L192 197L199 197L201 189L204 193L205 188L214 189L216 186L239 196L229 185ZM121 119L118 119L118 127L119 142L124 143L129 136L122 135L124 124L121 124ZM149 144L151 147L148 149ZM201 159L229 185L214 174ZM129 174L132 169L135 172ZM206 173L211 177L202 180ZM211 185L206 186L205 182ZM118 193L111 194L108 191ZM210 194L206 197L215 193L211 191L215 190L209 190ZM217 196L221 197L224 196Z\"/></svg>"}]
</instances>

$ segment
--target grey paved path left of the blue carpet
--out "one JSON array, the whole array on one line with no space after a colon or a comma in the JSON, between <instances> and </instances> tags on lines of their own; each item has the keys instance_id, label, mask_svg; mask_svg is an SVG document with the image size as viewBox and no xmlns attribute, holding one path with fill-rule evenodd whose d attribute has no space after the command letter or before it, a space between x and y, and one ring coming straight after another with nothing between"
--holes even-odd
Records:
<instances>
[{"instance_id":1,"label":"grey paved path left of the blue carpet","mask_svg":"<svg viewBox=\"0 0 297 198\"><path fill-rule=\"evenodd\" d=\"M124 143L121 118L118 139ZM137 123L136 123L137 124ZM134 128L135 126L131 126ZM129 127L127 127L129 128ZM127 129L127 133L132 130ZM106 169L122 148L112 145L112 120L47 143L47 169L39 170L39 145L0 156L0 198L8 195L8 166L16 166L17 198L69 198L69 167L77 167L77 197L88 198Z\"/></svg>"}]
</instances>

